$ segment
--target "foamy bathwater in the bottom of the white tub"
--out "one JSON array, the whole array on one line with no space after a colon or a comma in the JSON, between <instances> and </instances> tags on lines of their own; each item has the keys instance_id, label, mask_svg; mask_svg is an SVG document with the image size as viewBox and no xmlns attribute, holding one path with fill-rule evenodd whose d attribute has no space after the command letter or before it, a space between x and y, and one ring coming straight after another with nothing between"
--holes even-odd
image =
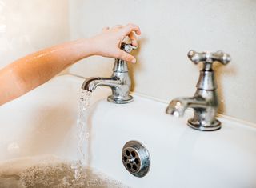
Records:
<instances>
[{"instance_id":1,"label":"foamy bathwater in the bottom of the white tub","mask_svg":"<svg viewBox=\"0 0 256 188\"><path fill-rule=\"evenodd\" d=\"M82 168L81 178L74 179L71 163L46 155L18 158L0 163L0 188L6 187L127 187L90 168Z\"/></svg>"}]
</instances>

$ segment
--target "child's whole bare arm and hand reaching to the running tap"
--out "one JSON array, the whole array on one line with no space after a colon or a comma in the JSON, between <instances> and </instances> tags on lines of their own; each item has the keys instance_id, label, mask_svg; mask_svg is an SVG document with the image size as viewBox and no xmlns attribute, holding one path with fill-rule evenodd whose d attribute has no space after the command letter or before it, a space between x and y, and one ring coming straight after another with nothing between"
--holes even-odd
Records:
<instances>
[{"instance_id":1,"label":"child's whole bare arm and hand reaching to the running tap","mask_svg":"<svg viewBox=\"0 0 256 188\"><path fill-rule=\"evenodd\" d=\"M0 70L0 105L26 94L66 67L91 55L136 62L132 55L119 48L126 36L137 46L134 32L141 34L134 24L114 26L111 29L107 27L93 38L66 42L18 59Z\"/></svg>"}]
</instances>

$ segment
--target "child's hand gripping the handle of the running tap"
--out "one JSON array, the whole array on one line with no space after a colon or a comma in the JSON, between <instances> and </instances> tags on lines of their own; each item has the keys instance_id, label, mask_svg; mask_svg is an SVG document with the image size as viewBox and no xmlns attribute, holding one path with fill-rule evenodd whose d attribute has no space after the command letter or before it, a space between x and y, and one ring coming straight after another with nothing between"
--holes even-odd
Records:
<instances>
[{"instance_id":1,"label":"child's hand gripping the handle of the running tap","mask_svg":"<svg viewBox=\"0 0 256 188\"><path fill-rule=\"evenodd\" d=\"M134 56L120 50L121 43L126 36L130 38L133 46L138 46L134 32L138 35L141 34L139 27L132 23L126 26L114 26L111 29L109 27L104 28L101 34L89 38L93 54L110 58L121 58L126 62L135 63L136 58Z\"/></svg>"}]
</instances>

